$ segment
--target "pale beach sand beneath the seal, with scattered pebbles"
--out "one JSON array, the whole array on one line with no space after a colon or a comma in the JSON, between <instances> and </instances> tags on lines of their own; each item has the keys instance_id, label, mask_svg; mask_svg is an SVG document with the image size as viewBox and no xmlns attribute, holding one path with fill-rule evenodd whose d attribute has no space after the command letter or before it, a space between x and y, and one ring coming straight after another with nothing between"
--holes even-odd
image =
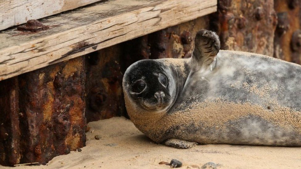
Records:
<instances>
[{"instance_id":1,"label":"pale beach sand beneath the seal, with scattered pebbles","mask_svg":"<svg viewBox=\"0 0 301 169\"><path fill-rule=\"evenodd\" d=\"M301 168L301 147L219 144L177 149L152 142L123 117L90 122L88 126L87 146L81 152L57 156L45 166L14 168L170 168L159 163L171 159L181 161L181 168L201 168L208 162L221 169ZM101 139L96 140L95 135Z\"/></svg>"}]
</instances>

